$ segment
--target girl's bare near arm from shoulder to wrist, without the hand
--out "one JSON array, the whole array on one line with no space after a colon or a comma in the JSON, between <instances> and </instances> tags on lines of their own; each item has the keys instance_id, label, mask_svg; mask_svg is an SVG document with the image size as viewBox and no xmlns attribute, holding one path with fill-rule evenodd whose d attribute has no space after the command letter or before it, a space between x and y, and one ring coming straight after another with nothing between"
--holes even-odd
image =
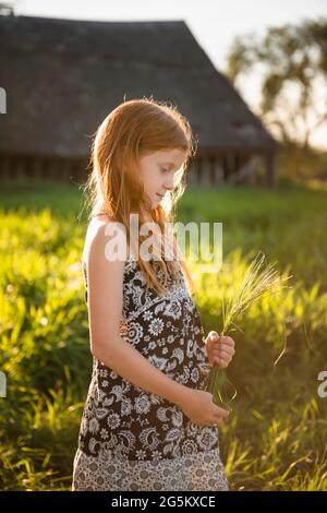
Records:
<instances>
[{"instance_id":1,"label":"girl's bare near arm from shoulder to wrist, without the hand","mask_svg":"<svg viewBox=\"0 0 327 513\"><path fill-rule=\"evenodd\" d=\"M105 229L105 222L94 223L84 251L92 354L134 385L180 405L191 389L168 378L120 336L124 262L106 259L105 246L110 238Z\"/></svg>"}]
</instances>

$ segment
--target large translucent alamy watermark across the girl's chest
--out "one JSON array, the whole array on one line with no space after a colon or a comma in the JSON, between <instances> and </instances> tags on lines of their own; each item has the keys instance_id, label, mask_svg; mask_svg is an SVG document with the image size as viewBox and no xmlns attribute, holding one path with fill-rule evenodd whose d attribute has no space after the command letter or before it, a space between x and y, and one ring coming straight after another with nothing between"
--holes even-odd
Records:
<instances>
[{"instance_id":1,"label":"large translucent alamy watermark across the girl's chest","mask_svg":"<svg viewBox=\"0 0 327 513\"><path fill-rule=\"evenodd\" d=\"M218 272L221 269L222 223L165 223L162 234L159 224L146 222L140 226L138 214L131 214L129 231L130 251L137 259L141 256L148 262L162 258L166 261L181 261L187 258L189 261L197 262L199 271L205 273ZM106 259L110 262L124 261L128 256L125 226L118 222L109 223L105 235L110 238L105 247ZM173 250L174 235L178 253Z\"/></svg>"}]
</instances>

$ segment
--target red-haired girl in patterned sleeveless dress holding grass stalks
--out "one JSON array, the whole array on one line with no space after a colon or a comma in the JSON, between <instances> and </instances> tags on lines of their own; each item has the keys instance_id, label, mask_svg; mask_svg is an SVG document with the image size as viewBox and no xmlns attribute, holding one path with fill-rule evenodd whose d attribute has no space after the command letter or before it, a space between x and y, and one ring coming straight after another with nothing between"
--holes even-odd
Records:
<instances>
[{"instance_id":1,"label":"red-haired girl in patterned sleeveless dress holding grass stalks","mask_svg":"<svg viewBox=\"0 0 327 513\"><path fill-rule=\"evenodd\" d=\"M217 434L228 411L201 389L214 361L228 366L234 342L204 336L175 237L171 259L162 244L147 259L130 226L136 214L168 241L192 139L187 120L153 99L124 102L96 133L82 258L94 367L73 490L228 489ZM118 227L123 258L109 254Z\"/></svg>"}]
</instances>

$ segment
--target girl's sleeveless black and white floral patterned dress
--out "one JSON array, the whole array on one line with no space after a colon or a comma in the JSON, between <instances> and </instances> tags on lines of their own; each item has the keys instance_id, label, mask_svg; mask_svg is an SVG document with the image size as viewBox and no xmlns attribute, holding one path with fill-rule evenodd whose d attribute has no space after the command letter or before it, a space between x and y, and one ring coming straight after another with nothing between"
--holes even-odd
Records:
<instances>
[{"instance_id":1,"label":"girl's sleeveless black and white floral patterned dress","mask_svg":"<svg viewBox=\"0 0 327 513\"><path fill-rule=\"evenodd\" d=\"M122 338L171 379L202 389L209 370L205 335L181 269L180 282L171 281L159 297L146 288L133 255L124 265ZM84 264L83 271L87 301ZM133 385L94 357L72 489L228 490L217 427L193 423L175 404Z\"/></svg>"}]
</instances>

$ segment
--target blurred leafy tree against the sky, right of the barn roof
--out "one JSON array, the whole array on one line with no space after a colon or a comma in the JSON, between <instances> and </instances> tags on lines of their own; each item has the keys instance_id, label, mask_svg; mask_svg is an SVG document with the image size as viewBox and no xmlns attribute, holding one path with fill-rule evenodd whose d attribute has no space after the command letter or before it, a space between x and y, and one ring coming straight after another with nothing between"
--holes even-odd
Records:
<instances>
[{"instance_id":1,"label":"blurred leafy tree against the sky, right of the barn roof","mask_svg":"<svg viewBox=\"0 0 327 513\"><path fill-rule=\"evenodd\" d=\"M284 145L310 153L313 134L327 127L327 19L270 27L263 38L237 37L227 74L242 88L254 72L262 77L264 122Z\"/></svg>"}]
</instances>

